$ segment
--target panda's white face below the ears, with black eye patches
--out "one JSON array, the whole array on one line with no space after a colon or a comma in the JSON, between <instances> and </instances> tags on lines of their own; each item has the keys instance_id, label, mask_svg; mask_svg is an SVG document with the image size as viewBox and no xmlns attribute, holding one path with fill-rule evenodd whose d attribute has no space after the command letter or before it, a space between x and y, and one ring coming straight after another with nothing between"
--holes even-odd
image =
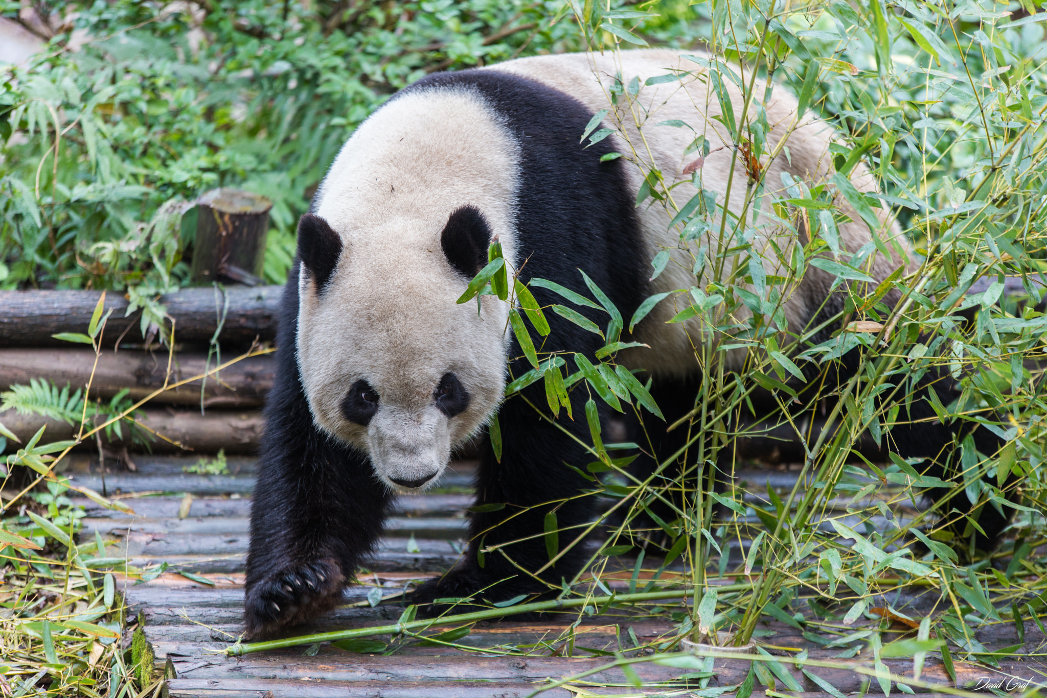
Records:
<instances>
[{"instance_id":1,"label":"panda's white face below the ears, with black eye patches","mask_svg":"<svg viewBox=\"0 0 1047 698\"><path fill-rule=\"evenodd\" d=\"M497 407L506 356L491 347L504 345L505 303L485 298L477 317L475 302L458 306L439 285L374 293L393 269L341 266L319 295L309 274L299 280L298 365L314 422L367 453L391 488L419 491Z\"/></svg>"}]
</instances>

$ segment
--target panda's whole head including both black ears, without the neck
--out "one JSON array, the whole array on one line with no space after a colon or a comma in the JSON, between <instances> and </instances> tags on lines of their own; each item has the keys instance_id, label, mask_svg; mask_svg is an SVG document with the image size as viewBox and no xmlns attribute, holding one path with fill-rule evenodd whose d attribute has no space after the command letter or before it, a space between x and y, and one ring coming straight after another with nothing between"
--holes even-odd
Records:
<instances>
[{"instance_id":1,"label":"panda's whole head including both black ears, without the neck","mask_svg":"<svg viewBox=\"0 0 1047 698\"><path fill-rule=\"evenodd\" d=\"M313 421L397 491L435 483L505 386L506 303L455 302L492 231L475 206L444 206L338 231L312 213L298 224L296 344Z\"/></svg>"}]
</instances>

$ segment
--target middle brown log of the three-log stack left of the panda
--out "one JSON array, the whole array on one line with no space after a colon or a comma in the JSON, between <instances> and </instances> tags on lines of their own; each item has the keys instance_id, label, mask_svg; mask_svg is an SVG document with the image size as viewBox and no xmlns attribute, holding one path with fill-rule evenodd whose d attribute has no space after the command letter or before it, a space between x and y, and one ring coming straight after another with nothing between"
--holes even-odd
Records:
<instances>
[{"instance_id":1,"label":"middle brown log of the three-log stack left of the panda","mask_svg":"<svg viewBox=\"0 0 1047 698\"><path fill-rule=\"evenodd\" d=\"M230 358L223 354L222 358ZM28 385L34 378L52 381L70 390L83 388L91 380L91 398L108 400L120 390L138 401L163 387L168 373L168 355L124 351L103 352L97 365L90 348L0 348L0 390L14 384ZM218 364L217 357L207 363L206 354L175 355L169 383L200 376ZM92 370L94 378L91 379ZM265 393L272 387L275 363L271 356L243 359L204 382L203 404L215 408L261 407ZM201 381L166 390L153 399L154 404L196 405L201 402Z\"/></svg>"}]
</instances>

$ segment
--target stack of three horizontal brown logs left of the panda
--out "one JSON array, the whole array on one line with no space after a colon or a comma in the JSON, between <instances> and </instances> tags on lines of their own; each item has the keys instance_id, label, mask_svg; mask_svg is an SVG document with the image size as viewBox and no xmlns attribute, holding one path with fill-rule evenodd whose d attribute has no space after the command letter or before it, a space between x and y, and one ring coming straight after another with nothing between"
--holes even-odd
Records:
<instances>
[{"instance_id":1,"label":"stack of three horizontal brown logs left of the panda","mask_svg":"<svg viewBox=\"0 0 1047 698\"><path fill-rule=\"evenodd\" d=\"M129 301L117 293L106 295L105 308L113 312L102 335L102 351L53 339L51 335L84 333L101 292L0 292L0 392L13 385L43 380L69 392L81 391L90 381L89 400L108 405L124 393L124 404L142 400L157 390L214 370L250 346L264 346L275 338L275 318L283 287L192 288L161 297L175 325L175 348L143 345L137 313L127 315ZM209 343L218 332L221 354ZM170 366L169 366L170 360ZM271 355L252 356L213 374L155 396L135 412L142 428L132 438L129 425L121 436L110 432L81 445L81 449L110 453L216 453L254 454L262 434L261 408L272 386ZM101 419L101 418L95 418ZM25 443L47 425L46 440L73 438L80 425L0 412L0 423ZM147 435L155 432L153 435ZM144 438L144 441L143 441ZM12 445L14 447L15 445ZM8 447L9 450L10 447Z\"/></svg>"}]
</instances>

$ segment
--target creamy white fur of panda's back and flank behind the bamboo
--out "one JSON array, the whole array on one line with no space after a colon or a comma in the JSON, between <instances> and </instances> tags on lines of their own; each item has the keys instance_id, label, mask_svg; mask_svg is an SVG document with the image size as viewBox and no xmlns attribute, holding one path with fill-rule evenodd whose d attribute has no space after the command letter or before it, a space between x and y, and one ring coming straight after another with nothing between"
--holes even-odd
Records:
<instances>
[{"instance_id":1,"label":"creamy white fur of panda's back and flank behind the bamboo","mask_svg":"<svg viewBox=\"0 0 1047 698\"><path fill-rule=\"evenodd\" d=\"M711 57L700 53L696 58L712 60ZM542 55L510 61L491 69L505 70L540 81L571 94L593 112L609 109L611 114L618 116L617 122L624 126L626 142L622 142L616 135L615 140L618 141L616 149L633 157L640 165L626 168L631 192L636 194L639 190L646 173L658 170L665 178L667 187L686 182L673 188L672 196L677 208L697 193L696 187L690 184L691 175L685 174L686 167L694 163L697 155L692 153L685 156L685 151L695 134L703 134L709 140L710 154L700 167L701 186L707 190L716 192L719 195L717 201L720 204L727 201L728 208L735 216L741 216L747 205L752 210L752 202L747 204L745 165L736 149L731 145L732 140L727 128L714 118L721 115L719 102L712 83L706 76L706 70L694 61L681 57L676 51L655 49L622 51L618 54L607 52ZM752 74L745 69L739 69L737 65L730 66L730 69L738 72L741 80L747 83L753 80ZM669 83L645 85L649 77L669 73L675 73L681 78ZM619 74L623 85L639 78L641 88L634 102L620 99L617 106L612 106L608 88ZM732 81L722 82L731 97L734 114L738 117L744 109L743 95ZM765 86L764 81L756 78L756 86L752 90L754 102L764 94ZM809 116L798 123L797 106L796 98L781 86L775 86L774 96L765 105L767 123L772 128L766 136L768 149L774 149L782 139L787 142L787 153L782 152L771 162L761 163L765 167L763 184L772 193L785 188L781 180L782 173L793 175L808 186L825 182L832 174L828 150L833 136L832 128ZM754 111L755 106L751 106L750 117ZM611 114L605 121L612 118ZM683 121L693 131L682 127L659 126L663 121L672 120ZM875 181L864 164L853 168L850 180L859 192L876 190ZM730 197L729 182L732 184ZM850 223L840 226L842 246L855 252L869 242L869 228L842 196L838 197L836 203L841 212L852 219ZM672 254L665 271L650 285L649 294L687 289L696 283L704 287L713 280L708 276L711 265L706 266L707 275L703 279L695 279L691 273L693 260L687 252L686 246L681 245L678 231L669 226L676 210L648 200L638 212L650 257L663 249L670 250ZM875 255L872 260L871 275L877 280L888 276L899 265L909 264L908 241L897 225L888 222L886 211L879 213L881 220L885 223L884 229L879 231L881 239L896 241L907 251L907 257L889 260L883 255ZM796 235L793 230L771 224L765 216L751 221L750 225L760 227L764 235L764 244L757 245L756 251L763 260L767 275L786 275L782 266L775 264L776 255L765 251L765 240L771 235L784 238L785 244L781 247L787 249L795 241ZM730 240L730 232L728 239ZM715 256L721 251L717 242L716 232L713 232L692 242L690 249L693 251L701 245L707 245L710 256ZM817 268L807 270L801 287L795 289L794 295L783 305L793 331L800 330L808 323L811 307L817 308L821 305L831 284L832 277L822 270ZM689 300L684 299L683 302ZM692 318L684 323L666 324L666 320L682 310L683 307L675 307L670 302L655 307L638 327L632 338L649 344L651 350L627 350L620 355L620 362L630 368L644 368L652 374L666 376L685 376L692 373L694 370L692 338L701 332L703 320ZM749 315L749 310L742 308L737 319L743 320ZM742 353L735 352L730 355L729 363L733 368L738 368L743 359Z\"/></svg>"}]
</instances>

